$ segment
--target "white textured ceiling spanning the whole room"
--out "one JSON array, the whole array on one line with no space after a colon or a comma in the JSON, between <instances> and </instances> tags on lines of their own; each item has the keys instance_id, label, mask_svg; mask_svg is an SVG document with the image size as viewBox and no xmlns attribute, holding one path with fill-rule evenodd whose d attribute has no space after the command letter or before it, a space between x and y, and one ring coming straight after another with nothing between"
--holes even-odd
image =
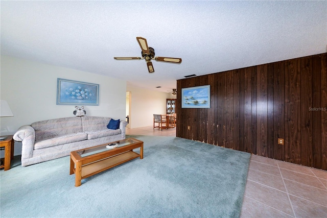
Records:
<instances>
[{"instance_id":1,"label":"white textured ceiling spanning the whole room","mask_svg":"<svg viewBox=\"0 0 327 218\"><path fill-rule=\"evenodd\" d=\"M136 36L156 56L140 57ZM1 54L165 91L205 75L326 52L327 1L1 1ZM156 86L162 88L157 89Z\"/></svg>"}]
</instances>

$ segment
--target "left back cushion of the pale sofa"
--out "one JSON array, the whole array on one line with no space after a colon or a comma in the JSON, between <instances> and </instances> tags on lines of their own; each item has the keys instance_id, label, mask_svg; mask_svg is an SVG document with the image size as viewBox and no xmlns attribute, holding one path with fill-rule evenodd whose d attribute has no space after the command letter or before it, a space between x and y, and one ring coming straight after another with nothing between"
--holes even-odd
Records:
<instances>
[{"instance_id":1,"label":"left back cushion of the pale sofa","mask_svg":"<svg viewBox=\"0 0 327 218\"><path fill-rule=\"evenodd\" d=\"M77 116L43 120L31 126L35 130L35 141L83 132L81 117Z\"/></svg>"}]
</instances>

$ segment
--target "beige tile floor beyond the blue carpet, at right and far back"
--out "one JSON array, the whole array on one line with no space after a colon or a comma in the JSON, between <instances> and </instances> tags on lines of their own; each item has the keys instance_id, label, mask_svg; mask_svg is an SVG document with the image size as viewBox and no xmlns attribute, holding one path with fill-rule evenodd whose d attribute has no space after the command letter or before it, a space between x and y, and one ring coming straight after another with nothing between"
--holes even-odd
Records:
<instances>
[{"instance_id":1,"label":"beige tile floor beyond the blue carpet, at right and far back","mask_svg":"<svg viewBox=\"0 0 327 218\"><path fill-rule=\"evenodd\" d=\"M126 134L176 136L176 128ZM327 171L251 155L241 217L327 217Z\"/></svg>"}]
</instances>

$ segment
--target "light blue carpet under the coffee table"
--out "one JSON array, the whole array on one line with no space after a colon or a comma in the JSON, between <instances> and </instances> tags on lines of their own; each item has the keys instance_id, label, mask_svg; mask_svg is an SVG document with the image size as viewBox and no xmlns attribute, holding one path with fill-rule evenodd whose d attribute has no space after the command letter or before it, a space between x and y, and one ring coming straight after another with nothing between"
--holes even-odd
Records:
<instances>
[{"instance_id":1,"label":"light blue carpet under the coffee table","mask_svg":"<svg viewBox=\"0 0 327 218\"><path fill-rule=\"evenodd\" d=\"M240 216L249 153L178 137L133 137L144 141L144 159L79 187L69 156L26 167L15 160L0 174L1 217Z\"/></svg>"}]
</instances>

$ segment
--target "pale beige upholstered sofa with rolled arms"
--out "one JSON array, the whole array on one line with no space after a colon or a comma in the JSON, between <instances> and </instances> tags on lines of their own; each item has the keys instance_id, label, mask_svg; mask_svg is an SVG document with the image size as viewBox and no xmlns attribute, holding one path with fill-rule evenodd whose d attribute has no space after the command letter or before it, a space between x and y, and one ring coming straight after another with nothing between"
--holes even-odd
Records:
<instances>
[{"instance_id":1,"label":"pale beige upholstered sofa with rolled arms","mask_svg":"<svg viewBox=\"0 0 327 218\"><path fill-rule=\"evenodd\" d=\"M74 116L48 119L20 127L14 134L22 142L21 165L27 166L59 157L71 151L125 139L125 120L119 129L108 129L111 118Z\"/></svg>"}]
</instances>

